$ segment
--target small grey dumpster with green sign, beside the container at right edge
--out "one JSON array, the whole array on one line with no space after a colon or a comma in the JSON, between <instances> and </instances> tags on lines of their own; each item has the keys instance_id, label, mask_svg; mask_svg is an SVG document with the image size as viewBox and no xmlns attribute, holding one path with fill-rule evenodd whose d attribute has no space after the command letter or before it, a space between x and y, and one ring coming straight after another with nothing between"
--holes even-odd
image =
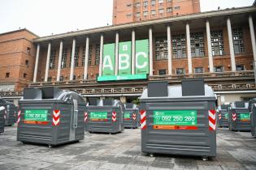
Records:
<instances>
[{"instance_id":1,"label":"small grey dumpster with green sign, beside the container at right edge","mask_svg":"<svg viewBox=\"0 0 256 170\"><path fill-rule=\"evenodd\" d=\"M250 130L250 116L248 103L245 101L236 101L230 104L228 110L228 128L236 131Z\"/></svg>"}]
</instances>

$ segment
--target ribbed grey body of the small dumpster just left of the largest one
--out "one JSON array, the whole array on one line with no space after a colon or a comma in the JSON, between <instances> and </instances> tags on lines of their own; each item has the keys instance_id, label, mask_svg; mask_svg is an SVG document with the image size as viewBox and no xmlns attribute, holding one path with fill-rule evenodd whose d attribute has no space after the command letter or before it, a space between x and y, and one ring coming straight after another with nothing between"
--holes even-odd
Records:
<instances>
[{"instance_id":1,"label":"ribbed grey body of the small dumpster just left of the largest one","mask_svg":"<svg viewBox=\"0 0 256 170\"><path fill-rule=\"evenodd\" d=\"M126 108L124 109L124 114L129 113L130 117L125 118L124 117L124 128L137 128L140 125L140 115L139 111L137 109L132 109L132 108ZM133 119L133 113L136 115L136 119Z\"/></svg>"}]
</instances>

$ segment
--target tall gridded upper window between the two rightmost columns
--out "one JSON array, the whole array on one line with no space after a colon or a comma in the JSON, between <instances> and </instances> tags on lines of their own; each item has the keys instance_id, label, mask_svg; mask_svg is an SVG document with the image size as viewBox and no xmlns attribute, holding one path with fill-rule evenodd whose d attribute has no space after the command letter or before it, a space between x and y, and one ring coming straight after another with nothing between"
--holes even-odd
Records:
<instances>
[{"instance_id":1,"label":"tall gridded upper window between the two rightmost columns","mask_svg":"<svg viewBox=\"0 0 256 170\"><path fill-rule=\"evenodd\" d=\"M245 42L242 28L233 28L233 42L235 53L245 53Z\"/></svg>"}]
</instances>

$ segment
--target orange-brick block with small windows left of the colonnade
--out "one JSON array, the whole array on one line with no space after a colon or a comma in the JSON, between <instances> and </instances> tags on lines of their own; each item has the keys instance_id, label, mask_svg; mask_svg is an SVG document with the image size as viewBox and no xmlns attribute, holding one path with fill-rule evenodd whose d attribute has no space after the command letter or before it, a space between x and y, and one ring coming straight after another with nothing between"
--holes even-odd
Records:
<instances>
[{"instance_id":1,"label":"orange-brick block with small windows left of the colonnade","mask_svg":"<svg viewBox=\"0 0 256 170\"><path fill-rule=\"evenodd\" d=\"M31 83L37 37L27 29L0 34L0 91L21 91Z\"/></svg>"}]
</instances>

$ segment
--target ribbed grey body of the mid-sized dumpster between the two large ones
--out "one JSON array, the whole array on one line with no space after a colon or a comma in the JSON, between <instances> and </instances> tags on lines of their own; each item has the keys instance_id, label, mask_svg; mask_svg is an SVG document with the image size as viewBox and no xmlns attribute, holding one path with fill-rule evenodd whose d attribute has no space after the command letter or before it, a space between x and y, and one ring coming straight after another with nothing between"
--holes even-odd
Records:
<instances>
[{"instance_id":1,"label":"ribbed grey body of the mid-sized dumpster between the two large ones","mask_svg":"<svg viewBox=\"0 0 256 170\"><path fill-rule=\"evenodd\" d=\"M89 132L118 133L124 130L123 112L114 106L88 106L88 120L85 122L85 130ZM90 113L107 113L107 120L92 121ZM112 121L112 113L116 113L116 121Z\"/></svg>"}]
</instances>

